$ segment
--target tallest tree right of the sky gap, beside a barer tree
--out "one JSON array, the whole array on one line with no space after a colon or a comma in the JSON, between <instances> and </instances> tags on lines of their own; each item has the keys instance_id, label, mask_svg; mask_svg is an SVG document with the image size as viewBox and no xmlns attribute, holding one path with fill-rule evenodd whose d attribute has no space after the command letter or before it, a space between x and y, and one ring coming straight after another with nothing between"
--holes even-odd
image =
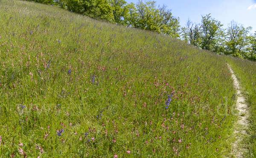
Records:
<instances>
[{"instance_id":1,"label":"tallest tree right of the sky gap, beside a barer tree","mask_svg":"<svg viewBox=\"0 0 256 158\"><path fill-rule=\"evenodd\" d=\"M221 27L220 21L215 20L207 14L202 16L201 21L201 49L207 49L209 51L220 53L218 45L224 41L224 29Z\"/></svg>"}]
</instances>

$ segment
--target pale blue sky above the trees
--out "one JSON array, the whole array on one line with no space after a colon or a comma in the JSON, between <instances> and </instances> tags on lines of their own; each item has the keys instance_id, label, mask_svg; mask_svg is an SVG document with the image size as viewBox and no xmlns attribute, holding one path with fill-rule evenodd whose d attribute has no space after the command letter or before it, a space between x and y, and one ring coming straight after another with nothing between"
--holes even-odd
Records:
<instances>
[{"instance_id":1,"label":"pale blue sky above the trees","mask_svg":"<svg viewBox=\"0 0 256 158\"><path fill-rule=\"evenodd\" d=\"M137 3L138 0L125 0L127 3ZM144 1L144 0L143 0ZM211 13L215 20L227 24L231 20L253 27L256 31L256 0L155 0L157 5L166 4L172 9L172 15L180 17L180 25L185 26L188 18L192 22L201 23L201 15Z\"/></svg>"}]
</instances>

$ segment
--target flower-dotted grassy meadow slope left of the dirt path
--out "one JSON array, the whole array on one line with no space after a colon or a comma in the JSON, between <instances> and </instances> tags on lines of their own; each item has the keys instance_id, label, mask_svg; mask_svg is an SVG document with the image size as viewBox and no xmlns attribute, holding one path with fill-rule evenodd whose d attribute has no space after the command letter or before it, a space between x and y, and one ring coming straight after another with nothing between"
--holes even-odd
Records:
<instances>
[{"instance_id":1,"label":"flower-dotted grassy meadow slope left of the dirt path","mask_svg":"<svg viewBox=\"0 0 256 158\"><path fill-rule=\"evenodd\" d=\"M1 157L227 155L223 57L26 1L0 1Z\"/></svg>"}]
</instances>

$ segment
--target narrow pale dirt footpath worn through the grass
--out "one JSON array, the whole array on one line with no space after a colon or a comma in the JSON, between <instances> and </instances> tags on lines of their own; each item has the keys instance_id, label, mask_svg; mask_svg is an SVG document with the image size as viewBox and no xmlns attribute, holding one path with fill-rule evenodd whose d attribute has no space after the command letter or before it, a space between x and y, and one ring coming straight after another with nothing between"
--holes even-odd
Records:
<instances>
[{"instance_id":1,"label":"narrow pale dirt footpath worn through the grass","mask_svg":"<svg viewBox=\"0 0 256 158\"><path fill-rule=\"evenodd\" d=\"M233 143L232 154L236 155L236 158L243 158L243 156L241 155L243 150L241 141L244 138L244 136L247 135L246 129L247 129L247 125L249 124L249 121L247 120L247 116L248 116L249 110L248 110L247 104L245 103L245 98L241 94L241 87L240 87L239 80L236 78L236 75L234 74L230 65L229 64L227 65L230 69L232 78L234 80L234 86L236 88L236 96L237 96L236 106L237 106L237 109L239 110L239 120L235 125L235 132L234 132L235 137L237 139Z\"/></svg>"}]
</instances>

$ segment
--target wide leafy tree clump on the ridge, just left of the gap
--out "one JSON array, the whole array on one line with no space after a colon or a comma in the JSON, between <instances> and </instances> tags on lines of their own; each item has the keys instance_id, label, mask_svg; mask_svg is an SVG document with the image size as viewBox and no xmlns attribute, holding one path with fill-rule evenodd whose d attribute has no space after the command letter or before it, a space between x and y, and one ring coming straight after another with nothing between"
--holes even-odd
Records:
<instances>
[{"instance_id":1,"label":"wide leafy tree clump on the ridge, just left of the gap","mask_svg":"<svg viewBox=\"0 0 256 158\"><path fill-rule=\"evenodd\" d=\"M125 24L130 27L159 32L172 37L180 37L179 18L172 16L167 6L158 6L156 1L139 0L137 4L127 5L128 13L125 16Z\"/></svg>"}]
</instances>

